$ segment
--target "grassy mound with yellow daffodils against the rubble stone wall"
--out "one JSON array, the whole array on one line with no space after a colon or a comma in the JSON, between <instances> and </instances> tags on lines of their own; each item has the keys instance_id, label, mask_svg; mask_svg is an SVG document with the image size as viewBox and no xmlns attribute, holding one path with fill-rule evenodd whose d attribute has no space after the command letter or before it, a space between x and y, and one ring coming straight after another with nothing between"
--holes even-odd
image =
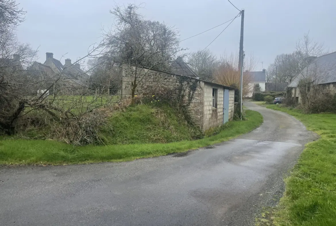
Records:
<instances>
[{"instance_id":1,"label":"grassy mound with yellow daffodils against the rubble stone wall","mask_svg":"<svg viewBox=\"0 0 336 226\"><path fill-rule=\"evenodd\" d=\"M202 132L171 107L137 104L114 112L99 136L105 144L170 143L201 138Z\"/></svg>"}]
</instances>

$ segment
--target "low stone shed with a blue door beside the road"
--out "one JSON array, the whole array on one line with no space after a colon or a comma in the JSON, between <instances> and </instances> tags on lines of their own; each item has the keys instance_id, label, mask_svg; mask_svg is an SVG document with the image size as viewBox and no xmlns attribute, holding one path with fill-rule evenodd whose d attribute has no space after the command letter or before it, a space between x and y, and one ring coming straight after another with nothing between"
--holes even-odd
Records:
<instances>
[{"instance_id":1,"label":"low stone shed with a blue door beside the road","mask_svg":"<svg viewBox=\"0 0 336 226\"><path fill-rule=\"evenodd\" d=\"M136 73L138 81L135 90L136 95L151 92L153 88L160 86L171 90L172 95L181 95L183 103L189 108L195 124L199 125L203 131L232 120L235 88L199 79L195 72L185 66L186 64L179 62L178 65L179 69L173 70L175 73L146 68L135 70L135 67L123 65L123 97L131 97L131 84ZM173 67L175 66L173 65ZM186 76L186 74L190 76ZM192 77L192 75L194 76Z\"/></svg>"}]
</instances>

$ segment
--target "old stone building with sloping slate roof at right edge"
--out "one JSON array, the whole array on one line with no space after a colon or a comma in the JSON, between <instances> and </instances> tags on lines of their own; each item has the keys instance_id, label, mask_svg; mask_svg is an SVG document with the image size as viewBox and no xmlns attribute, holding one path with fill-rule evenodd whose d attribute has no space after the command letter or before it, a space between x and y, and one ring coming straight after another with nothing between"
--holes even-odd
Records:
<instances>
[{"instance_id":1,"label":"old stone building with sloping slate roof at right edge","mask_svg":"<svg viewBox=\"0 0 336 226\"><path fill-rule=\"evenodd\" d=\"M311 57L308 59L309 65L295 75L287 87L287 93L298 104L301 104L301 94L299 83L318 85L324 94L336 94L336 52L323 55L321 57ZM290 98L287 96L287 98Z\"/></svg>"}]
</instances>

